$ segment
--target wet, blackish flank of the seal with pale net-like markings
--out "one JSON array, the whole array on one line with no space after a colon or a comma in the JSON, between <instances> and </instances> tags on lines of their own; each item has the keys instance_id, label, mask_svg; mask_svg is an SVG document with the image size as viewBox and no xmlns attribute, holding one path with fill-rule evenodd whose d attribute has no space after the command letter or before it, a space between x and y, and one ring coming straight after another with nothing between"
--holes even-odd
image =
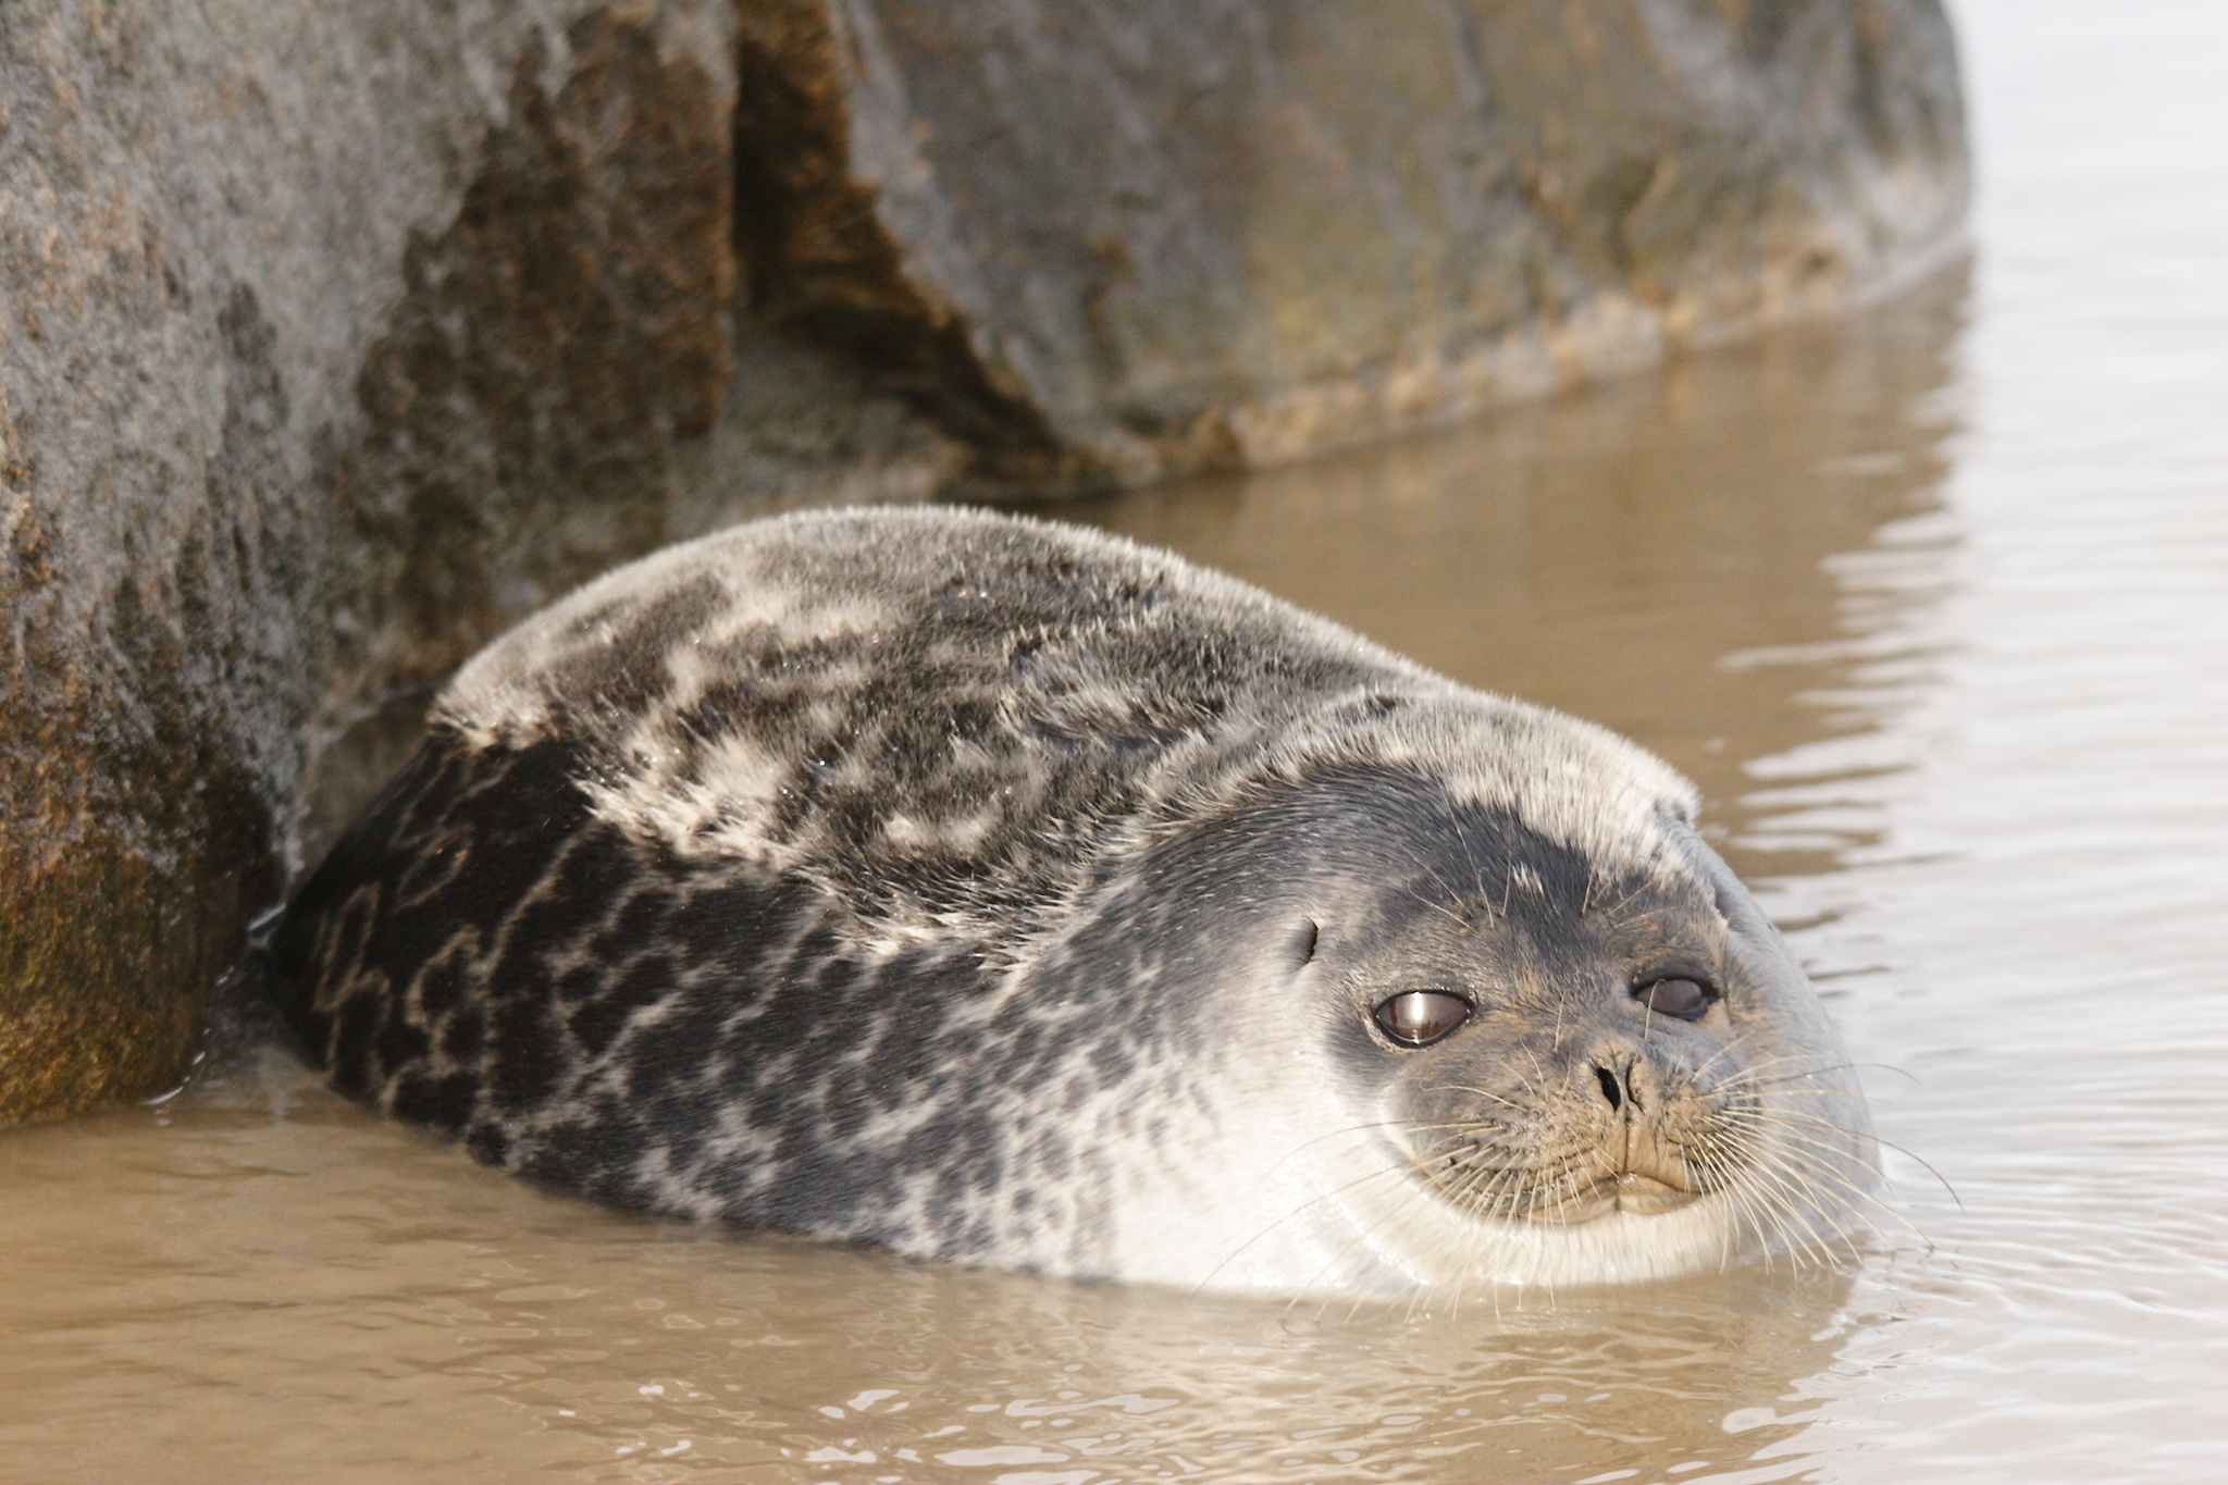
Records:
<instances>
[{"instance_id":1,"label":"wet, blackish flank of the seal with pale net-like markings","mask_svg":"<svg viewBox=\"0 0 2228 1485\"><path fill-rule=\"evenodd\" d=\"M947 1015L996 984L967 946L869 957L811 884L593 819L573 764L434 739L305 884L272 966L334 1089L613 1204L951 1258L1049 1216L1000 1196L1014 1160L1089 1202L1087 1160L985 1093L1121 1075L1123 997L1096 1037L1016 1017L954 1060Z\"/></svg>"}]
</instances>

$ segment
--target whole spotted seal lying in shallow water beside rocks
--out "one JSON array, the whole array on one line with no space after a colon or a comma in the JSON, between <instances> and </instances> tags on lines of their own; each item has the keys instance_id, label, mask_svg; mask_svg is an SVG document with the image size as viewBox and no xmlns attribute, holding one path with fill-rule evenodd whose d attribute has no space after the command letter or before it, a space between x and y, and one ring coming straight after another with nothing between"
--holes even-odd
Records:
<instances>
[{"instance_id":1,"label":"whole spotted seal lying in shallow water beside rocks","mask_svg":"<svg viewBox=\"0 0 2228 1485\"><path fill-rule=\"evenodd\" d=\"M466 663L270 968L336 1091L619 1207L1183 1287L1667 1278L1872 1189L1693 810L1165 552L791 514Z\"/></svg>"}]
</instances>

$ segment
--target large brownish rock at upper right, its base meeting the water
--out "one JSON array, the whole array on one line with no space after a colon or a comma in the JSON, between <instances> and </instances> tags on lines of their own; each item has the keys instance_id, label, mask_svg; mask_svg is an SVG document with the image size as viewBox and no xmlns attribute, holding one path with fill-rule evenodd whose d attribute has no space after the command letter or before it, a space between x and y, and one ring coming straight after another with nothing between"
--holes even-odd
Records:
<instances>
[{"instance_id":1,"label":"large brownish rock at upper right, its base meeting the water","mask_svg":"<svg viewBox=\"0 0 2228 1485\"><path fill-rule=\"evenodd\" d=\"M1965 207L1934 0L749 11L760 303L991 481L1457 419L1845 305Z\"/></svg>"}]
</instances>

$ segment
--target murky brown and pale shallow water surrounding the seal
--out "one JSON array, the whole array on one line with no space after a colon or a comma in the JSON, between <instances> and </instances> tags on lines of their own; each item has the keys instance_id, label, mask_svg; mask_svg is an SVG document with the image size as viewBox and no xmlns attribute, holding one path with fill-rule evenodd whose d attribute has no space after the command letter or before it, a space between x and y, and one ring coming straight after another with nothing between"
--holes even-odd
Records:
<instances>
[{"instance_id":1,"label":"murky brown and pale shallow water surrounding the seal","mask_svg":"<svg viewBox=\"0 0 2228 1485\"><path fill-rule=\"evenodd\" d=\"M1970 278L1087 512L1687 768L1916 1233L1428 1318L1049 1285L584 1209L250 1055L0 1138L0 1478L2217 1474L2228 11L1958 18Z\"/></svg>"}]
</instances>

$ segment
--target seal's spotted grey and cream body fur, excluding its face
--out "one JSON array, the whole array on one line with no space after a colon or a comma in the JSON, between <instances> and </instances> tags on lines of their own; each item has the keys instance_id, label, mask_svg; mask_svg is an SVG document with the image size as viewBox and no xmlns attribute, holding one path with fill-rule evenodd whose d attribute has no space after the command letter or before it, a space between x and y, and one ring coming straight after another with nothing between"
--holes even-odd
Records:
<instances>
[{"instance_id":1,"label":"seal's spotted grey and cream body fur, excluding its face","mask_svg":"<svg viewBox=\"0 0 2228 1485\"><path fill-rule=\"evenodd\" d=\"M472 659L272 968L339 1091L606 1202L1297 1289L1421 1271L1384 1213L1272 1231L1386 1158L1350 1138L1366 1004L1290 991L1315 924L1417 891L1711 917L1691 808L1600 728L1165 552L795 514Z\"/></svg>"}]
</instances>

